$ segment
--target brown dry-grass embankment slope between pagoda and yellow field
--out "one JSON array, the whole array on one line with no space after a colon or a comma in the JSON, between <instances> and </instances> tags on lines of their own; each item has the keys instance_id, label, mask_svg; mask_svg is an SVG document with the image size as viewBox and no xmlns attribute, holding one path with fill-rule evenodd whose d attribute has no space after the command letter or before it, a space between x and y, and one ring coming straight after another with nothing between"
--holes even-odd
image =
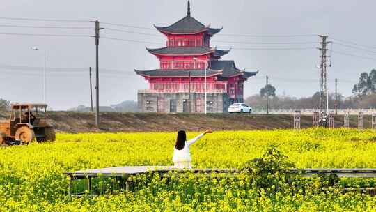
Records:
<instances>
[{"instance_id":1,"label":"brown dry-grass embankment slope between pagoda and yellow field","mask_svg":"<svg viewBox=\"0 0 376 212\"><path fill-rule=\"evenodd\" d=\"M161 132L212 130L268 130L293 128L290 115L248 114L150 114L101 113L101 129L95 128L95 114L88 112L52 112L52 125L59 132ZM350 126L357 127L357 116L350 117ZM336 127L343 126L343 116L336 116ZM301 117L301 128L312 126L312 116ZM364 117L370 128L370 116Z\"/></svg>"}]
</instances>

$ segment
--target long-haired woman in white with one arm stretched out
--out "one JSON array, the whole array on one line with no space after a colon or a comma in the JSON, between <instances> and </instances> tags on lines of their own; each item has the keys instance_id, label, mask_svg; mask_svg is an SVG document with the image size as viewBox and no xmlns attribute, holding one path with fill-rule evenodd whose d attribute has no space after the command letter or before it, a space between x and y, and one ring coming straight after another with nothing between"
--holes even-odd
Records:
<instances>
[{"instance_id":1,"label":"long-haired woman in white with one arm stretched out","mask_svg":"<svg viewBox=\"0 0 376 212\"><path fill-rule=\"evenodd\" d=\"M185 134L185 131L180 130L178 132L178 138L176 139L175 148L173 150L173 163L175 167L180 169L191 169L192 158L191 153L189 152L189 146L191 146L191 144L194 144L194 142L196 142L207 133L212 133L212 131L206 130L200 135L194 137L194 139L187 141L187 135Z\"/></svg>"}]
</instances>

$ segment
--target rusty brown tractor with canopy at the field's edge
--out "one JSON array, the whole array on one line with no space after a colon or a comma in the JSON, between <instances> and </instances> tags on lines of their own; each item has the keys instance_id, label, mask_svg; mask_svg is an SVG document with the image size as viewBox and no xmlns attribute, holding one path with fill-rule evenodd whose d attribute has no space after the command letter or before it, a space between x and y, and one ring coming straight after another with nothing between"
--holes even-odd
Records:
<instances>
[{"instance_id":1,"label":"rusty brown tractor with canopy at the field's edge","mask_svg":"<svg viewBox=\"0 0 376 212\"><path fill-rule=\"evenodd\" d=\"M47 105L13 104L9 120L0 120L0 144L29 144L54 141L55 131L47 123Z\"/></svg>"}]
</instances>

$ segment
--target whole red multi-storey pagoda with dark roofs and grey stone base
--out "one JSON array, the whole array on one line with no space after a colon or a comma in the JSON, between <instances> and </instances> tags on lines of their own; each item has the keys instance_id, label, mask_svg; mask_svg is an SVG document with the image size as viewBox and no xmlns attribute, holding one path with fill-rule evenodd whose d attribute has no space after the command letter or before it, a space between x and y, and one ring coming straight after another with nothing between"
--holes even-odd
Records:
<instances>
[{"instance_id":1,"label":"whole red multi-storey pagoda with dark roofs and grey stone base","mask_svg":"<svg viewBox=\"0 0 376 212\"><path fill-rule=\"evenodd\" d=\"M191 17L189 1L187 16L169 27L155 28L167 42L166 47L146 48L159 59L159 69L135 70L149 85L148 90L138 91L141 112L221 113L243 102L244 82L258 72L220 60L230 50L210 47L210 38L222 28L205 26Z\"/></svg>"}]
</instances>

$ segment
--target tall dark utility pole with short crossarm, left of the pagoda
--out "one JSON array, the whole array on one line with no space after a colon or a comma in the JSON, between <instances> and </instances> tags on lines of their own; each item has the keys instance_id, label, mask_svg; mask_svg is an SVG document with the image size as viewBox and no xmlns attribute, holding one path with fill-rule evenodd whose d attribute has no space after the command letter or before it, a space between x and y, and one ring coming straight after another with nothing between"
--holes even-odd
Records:
<instances>
[{"instance_id":1,"label":"tall dark utility pole with short crossarm, left of the pagoda","mask_svg":"<svg viewBox=\"0 0 376 212\"><path fill-rule=\"evenodd\" d=\"M100 30L104 28L100 28L100 22L98 20L94 21L95 24L95 91L96 91L96 100L95 100L95 126L97 128L100 127L100 103L99 103L99 38L100 38Z\"/></svg>"}]
</instances>

